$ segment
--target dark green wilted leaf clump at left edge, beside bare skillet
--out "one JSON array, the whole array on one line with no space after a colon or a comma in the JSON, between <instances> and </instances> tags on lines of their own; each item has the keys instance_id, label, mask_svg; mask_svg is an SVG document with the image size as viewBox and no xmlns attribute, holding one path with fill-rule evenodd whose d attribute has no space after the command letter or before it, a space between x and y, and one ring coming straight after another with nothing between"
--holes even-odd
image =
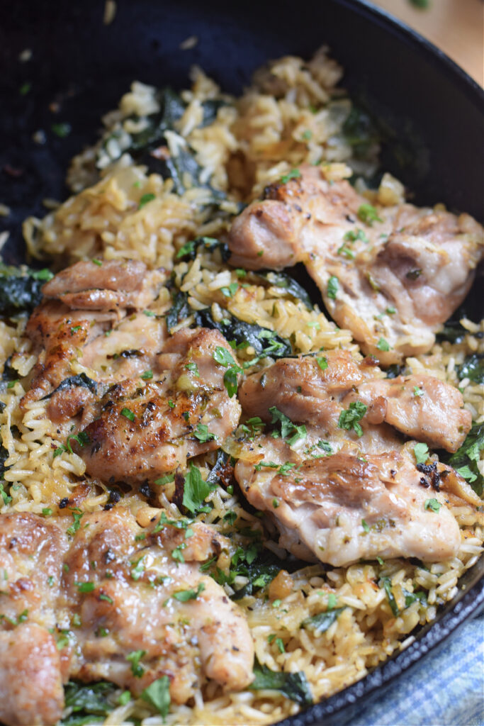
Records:
<instances>
[{"instance_id":1,"label":"dark green wilted leaf clump at left edge, beside bare skillet","mask_svg":"<svg viewBox=\"0 0 484 726\"><path fill-rule=\"evenodd\" d=\"M32 311L42 300L42 285L51 277L49 270L24 270L0 264L0 314Z\"/></svg>"}]
</instances>

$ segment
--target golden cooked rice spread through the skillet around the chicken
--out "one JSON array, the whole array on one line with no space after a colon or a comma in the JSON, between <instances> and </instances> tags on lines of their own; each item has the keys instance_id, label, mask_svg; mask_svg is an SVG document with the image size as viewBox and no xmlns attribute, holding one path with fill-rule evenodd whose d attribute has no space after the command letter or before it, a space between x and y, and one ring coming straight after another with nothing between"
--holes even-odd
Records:
<instances>
[{"instance_id":1,"label":"golden cooked rice spread through the skillet around the chicken","mask_svg":"<svg viewBox=\"0 0 484 726\"><path fill-rule=\"evenodd\" d=\"M114 6L115 4L110 4ZM107 4L108 6L108 4ZM113 11L110 11L112 15ZM155 89L133 83L121 99L118 110L104 118L106 130L100 142L73 160L68 174L76 194L43 220L25 222L28 249L36 257L54 257L54 264L64 266L78 259L104 256L141 259L148 266L163 266L173 271L176 285L189 294L193 309L211 306L213 317L221 319L228 309L242 320L256 322L289 338L295 352L307 353L319 348L358 346L348 330L339 330L315 307L312 311L280 287L262 284L252 274L243 280L237 293L227 297L221 288L240 282L237 271L227 269L221 260L199 250L193 261L177 261L176 250L194 237L218 237L226 232L238 203L259 195L266 184L287 174L304 161L327 163L333 178L350 174L371 176L377 168L377 144L372 142L364 160L357 159L343 133L351 110L344 91L337 88L342 70L322 49L311 62L285 57L270 69L256 73L253 86L240 99L224 96L218 86L200 69L192 73L192 88L183 92L188 103L176 122L176 133L168 132L168 144L186 144L196 153L202 167L202 182L210 181L214 189L226 193L226 201L213 213L210 192L204 188L186 188L176 195L173 181L163 181L157 174L134 166L127 151L131 134L146 128L147 115L157 113L160 105ZM216 119L200 128L202 102L221 99ZM134 115L136 118L134 118ZM360 189L364 181L358 182ZM369 192L369 195L375 192ZM144 195L154 195L141 205ZM398 203L403 187L385 175L377 192L380 203ZM169 306L169 296L160 299L160 311ZM180 324L190 325L192 319ZM483 351L484 323L462 322L468 331L460 343L436 344L429 354L408 359L412 372L427 372L462 389L465 406L477 421L484 420L483 386L459 381L456 366L464 357ZM0 361L15 351L14 365L19 377L28 374L36 362L30 354L30 341L23 335L25 320L0 322ZM250 358L253 351L241 351ZM81 367L76 372L81 372ZM76 454L63 452L54 458L56 427L46 414L46 404L36 401L25 412L19 401L25 391L20 382L2 389L0 401L6 404L0 413L0 436L8 451L5 482L10 484L12 502L0 507L7 511L41 513L44 507L57 505L68 497L84 477L85 465ZM202 472L208 473L213 457L197 460ZM484 462L480 462L484 473ZM107 503L109 492L100 481L91 481L91 494L83 500L83 510L97 510ZM203 515L205 521L227 533L223 515L234 510L242 521L261 529L261 521L247 513L221 486L210 494L213 509ZM0 499L1 501L1 499ZM132 493L123 499L143 518L145 502ZM181 516L166 494L160 494L160 506L171 515ZM266 590L247 596L239 604L247 614L255 640L255 653L261 664L273 670L303 671L315 700L326 698L364 677L373 666L411 642L409 634L419 624L435 618L438 606L456 595L459 577L472 567L483 550L484 531L475 509L461 503L454 514L462 528L462 546L458 555L445 563L388 560L384 564L361 563L348 568L308 566L292 574L294 587L287 597L265 597ZM247 545L247 539L232 528L234 546ZM266 547L279 556L286 553L270 537ZM393 584L395 600L401 610L393 616L385 590L376 584L387 576ZM237 587L244 584L243 579ZM231 587L226 585L230 595ZM427 591L427 605L418 600L405 608L402 588L409 592ZM348 607L334 624L321 635L300 628L309 616L327 608L333 593L339 605ZM279 603L278 603L279 600ZM282 639L284 652L276 639ZM299 706L276 691L245 690L223 693L210 682L197 692L189 706L172 706L168 724L266 724L295 714ZM107 724L132 722L161 724L147 703L130 701L119 706Z\"/></svg>"}]
</instances>

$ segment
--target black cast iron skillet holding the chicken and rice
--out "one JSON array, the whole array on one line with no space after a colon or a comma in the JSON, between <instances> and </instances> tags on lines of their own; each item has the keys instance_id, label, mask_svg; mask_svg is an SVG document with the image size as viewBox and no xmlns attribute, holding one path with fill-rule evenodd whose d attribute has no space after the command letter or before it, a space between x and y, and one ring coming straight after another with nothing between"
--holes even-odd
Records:
<instances>
[{"instance_id":1,"label":"black cast iron skillet holding the chicken and rice","mask_svg":"<svg viewBox=\"0 0 484 726\"><path fill-rule=\"evenodd\" d=\"M308 57L322 43L345 67L344 84L380 122L386 143L382 168L414 190L419 204L443 201L480 221L483 212L484 94L434 46L406 26L357 0L118 0L111 25L104 3L83 0L0 0L0 201L12 208L1 229L11 232L4 260L25 258L20 223L42 216L46 197L65 198L70 157L96 139L99 117L114 108L134 78L157 86L185 87L194 63L226 91L239 93L250 74L282 54ZM179 44L199 42L189 51ZM22 50L32 59L19 62ZM30 91L19 89L30 83ZM25 90L25 89L24 89ZM60 102L52 113L49 104ZM52 123L72 132L59 139ZM32 134L46 132L46 144ZM6 224L5 224L6 223ZM467 314L482 316L481 288ZM380 698L387 685L438 645L484 603L477 564L462 590L423 627L409 648L360 682L284 721L285 726L348 722Z\"/></svg>"}]
</instances>

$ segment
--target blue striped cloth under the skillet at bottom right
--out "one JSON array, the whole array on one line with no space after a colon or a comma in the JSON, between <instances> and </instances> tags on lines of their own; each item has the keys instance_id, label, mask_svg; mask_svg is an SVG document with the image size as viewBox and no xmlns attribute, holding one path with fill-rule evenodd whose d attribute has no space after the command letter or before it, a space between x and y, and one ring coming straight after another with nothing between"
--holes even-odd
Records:
<instances>
[{"instance_id":1,"label":"blue striped cloth under the skillet at bottom right","mask_svg":"<svg viewBox=\"0 0 484 726\"><path fill-rule=\"evenodd\" d=\"M484 726L484 615L465 623L348 726Z\"/></svg>"}]
</instances>

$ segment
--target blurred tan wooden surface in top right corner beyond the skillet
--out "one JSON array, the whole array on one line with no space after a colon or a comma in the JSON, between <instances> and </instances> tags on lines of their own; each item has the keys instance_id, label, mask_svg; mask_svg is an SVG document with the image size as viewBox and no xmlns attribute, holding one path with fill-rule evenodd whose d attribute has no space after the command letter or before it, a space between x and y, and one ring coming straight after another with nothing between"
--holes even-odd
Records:
<instances>
[{"instance_id":1,"label":"blurred tan wooden surface in top right corner beyond the skillet","mask_svg":"<svg viewBox=\"0 0 484 726\"><path fill-rule=\"evenodd\" d=\"M410 0L371 1L432 41L484 86L483 0L428 0L424 10Z\"/></svg>"}]
</instances>

